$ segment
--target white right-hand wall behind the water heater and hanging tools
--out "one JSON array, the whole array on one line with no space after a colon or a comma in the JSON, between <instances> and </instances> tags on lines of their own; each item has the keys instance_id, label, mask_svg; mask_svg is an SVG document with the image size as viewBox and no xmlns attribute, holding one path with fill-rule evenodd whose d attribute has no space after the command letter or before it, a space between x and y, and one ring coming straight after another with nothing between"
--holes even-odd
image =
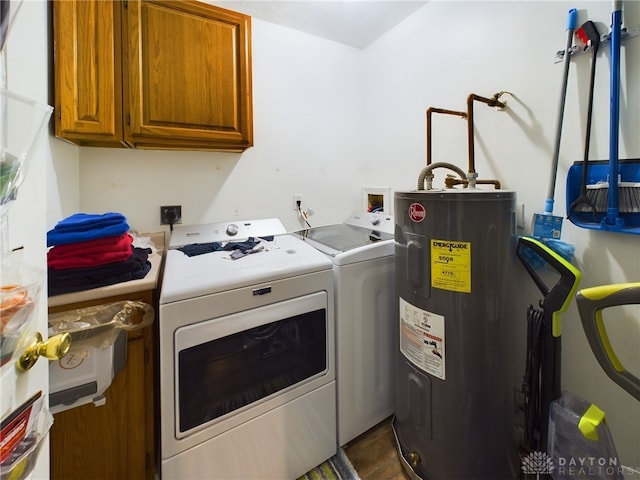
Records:
<instances>
[{"instance_id":1,"label":"white right-hand wall behind the water heater and hanging tools","mask_svg":"<svg viewBox=\"0 0 640 480\"><path fill-rule=\"evenodd\" d=\"M365 52L366 168L364 182L384 179L392 190L413 190L425 165L425 112L466 110L470 93L505 95L505 111L476 103L476 170L515 190L530 222L547 198L566 17L579 9L578 25L594 21L609 31L610 2L431 2ZM640 23L640 2L624 2L624 24ZM620 158L640 157L640 38L623 42ZM569 166L582 160L591 55L576 56L567 87L556 215L565 215ZM597 64L590 158L608 159L609 52ZM433 116L433 161L467 166L466 121ZM395 212L396 215L398 212ZM637 235L584 230L565 220L562 239L576 247L582 287L640 281ZM537 303L541 297L530 301ZM525 321L522 315L514 321ZM619 314L621 312L618 312ZM640 376L640 308L616 317L611 329L623 364ZM612 319L615 320L615 319ZM607 413L624 464L640 468L640 402L600 369L587 344L575 304L563 316L562 386ZM617 343L616 343L617 340Z\"/></svg>"}]
</instances>

